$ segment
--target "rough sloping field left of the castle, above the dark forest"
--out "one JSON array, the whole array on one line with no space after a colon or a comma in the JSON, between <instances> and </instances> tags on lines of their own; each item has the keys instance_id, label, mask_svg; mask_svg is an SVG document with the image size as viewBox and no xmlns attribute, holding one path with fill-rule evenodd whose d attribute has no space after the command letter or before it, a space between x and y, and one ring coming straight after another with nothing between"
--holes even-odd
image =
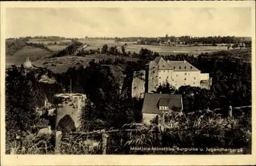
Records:
<instances>
[{"instance_id":1,"label":"rough sloping field left of the castle, above the dark forest","mask_svg":"<svg viewBox=\"0 0 256 166\"><path fill-rule=\"evenodd\" d=\"M70 67L79 67L87 66L90 61L93 59L95 62L99 62L99 60L108 60L108 59L124 59L126 61L137 61L137 58L129 58L129 57L115 57L115 56L106 56L102 54L93 54L87 57L77 57L77 56L65 56L59 58L50 58L44 60L38 60L36 62L32 62L32 64L36 67L46 67L50 69L54 73L62 73L66 72Z\"/></svg>"}]
</instances>

